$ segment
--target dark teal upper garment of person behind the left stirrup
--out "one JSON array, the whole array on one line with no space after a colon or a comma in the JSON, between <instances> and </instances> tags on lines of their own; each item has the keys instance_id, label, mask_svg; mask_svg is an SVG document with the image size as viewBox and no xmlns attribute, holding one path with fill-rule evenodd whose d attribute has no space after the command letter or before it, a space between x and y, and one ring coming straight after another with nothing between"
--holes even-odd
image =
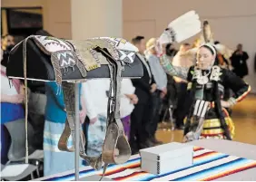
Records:
<instances>
[{"instance_id":1,"label":"dark teal upper garment of person behind the left stirrup","mask_svg":"<svg viewBox=\"0 0 256 182\"><path fill-rule=\"evenodd\" d=\"M58 85L55 81L49 81L45 83L45 94L47 96L45 106L45 120L51 120L52 122L64 123L66 119L66 112L64 111L64 93L61 88L59 93ZM79 83L79 95L81 95L82 84ZM79 100L80 110L82 109L81 102Z\"/></svg>"}]
</instances>

